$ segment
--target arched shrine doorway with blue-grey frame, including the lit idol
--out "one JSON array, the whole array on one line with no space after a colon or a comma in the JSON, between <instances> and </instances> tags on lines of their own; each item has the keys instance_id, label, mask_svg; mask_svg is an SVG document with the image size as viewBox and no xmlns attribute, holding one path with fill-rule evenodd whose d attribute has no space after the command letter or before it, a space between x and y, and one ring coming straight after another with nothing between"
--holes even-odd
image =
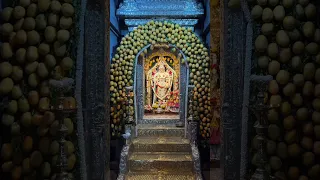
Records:
<instances>
[{"instance_id":1,"label":"arched shrine doorway with blue-grey frame, including the lit idol","mask_svg":"<svg viewBox=\"0 0 320 180\"><path fill-rule=\"evenodd\" d=\"M167 44L149 45L140 53L135 81L137 123L182 120L187 84L183 54Z\"/></svg>"}]
</instances>

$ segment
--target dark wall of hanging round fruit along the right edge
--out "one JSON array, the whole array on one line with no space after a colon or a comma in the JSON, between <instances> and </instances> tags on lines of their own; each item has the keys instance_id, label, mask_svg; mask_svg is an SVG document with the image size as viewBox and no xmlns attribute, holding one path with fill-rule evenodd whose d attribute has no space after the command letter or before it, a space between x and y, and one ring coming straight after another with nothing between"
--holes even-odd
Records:
<instances>
[{"instance_id":1,"label":"dark wall of hanging round fruit along the right edge","mask_svg":"<svg viewBox=\"0 0 320 180\"><path fill-rule=\"evenodd\" d=\"M256 63L269 84L269 170L276 179L320 179L320 29L312 0L257 0ZM253 140L256 148L257 139ZM253 164L257 164L256 155Z\"/></svg>"}]
</instances>

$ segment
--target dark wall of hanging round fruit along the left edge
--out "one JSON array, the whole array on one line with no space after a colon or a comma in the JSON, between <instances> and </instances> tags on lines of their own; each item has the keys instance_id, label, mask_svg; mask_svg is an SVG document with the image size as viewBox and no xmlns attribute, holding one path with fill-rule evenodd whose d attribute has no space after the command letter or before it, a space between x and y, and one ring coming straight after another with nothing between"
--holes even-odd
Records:
<instances>
[{"instance_id":1,"label":"dark wall of hanging round fruit along the left edge","mask_svg":"<svg viewBox=\"0 0 320 180\"><path fill-rule=\"evenodd\" d=\"M15 4L1 12L0 97L9 100L1 117L0 179L50 179L56 172L59 123L48 111L54 100L48 81L72 74L74 61L67 46L75 9L72 0ZM69 97L65 106L74 104ZM64 123L71 139L74 121L66 118ZM67 141L65 146L71 173L74 143Z\"/></svg>"}]
</instances>

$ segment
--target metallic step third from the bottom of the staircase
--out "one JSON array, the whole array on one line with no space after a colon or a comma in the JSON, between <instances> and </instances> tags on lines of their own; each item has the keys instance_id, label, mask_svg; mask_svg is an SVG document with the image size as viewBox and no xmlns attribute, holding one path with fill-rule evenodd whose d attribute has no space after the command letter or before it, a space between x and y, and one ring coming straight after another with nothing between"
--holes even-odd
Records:
<instances>
[{"instance_id":1,"label":"metallic step third from the bottom of the staircase","mask_svg":"<svg viewBox=\"0 0 320 180\"><path fill-rule=\"evenodd\" d=\"M191 152L189 140L181 137L138 137L133 140L135 152Z\"/></svg>"}]
</instances>

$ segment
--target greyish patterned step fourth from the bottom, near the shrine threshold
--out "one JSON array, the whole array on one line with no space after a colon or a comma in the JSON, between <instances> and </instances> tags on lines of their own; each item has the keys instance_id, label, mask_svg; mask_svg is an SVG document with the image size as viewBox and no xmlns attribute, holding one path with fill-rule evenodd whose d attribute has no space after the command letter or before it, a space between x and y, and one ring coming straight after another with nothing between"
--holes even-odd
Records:
<instances>
[{"instance_id":1,"label":"greyish patterned step fourth from the bottom, near the shrine threshold","mask_svg":"<svg viewBox=\"0 0 320 180\"><path fill-rule=\"evenodd\" d=\"M138 137L184 137L184 127L176 127L175 124L138 124Z\"/></svg>"}]
</instances>

